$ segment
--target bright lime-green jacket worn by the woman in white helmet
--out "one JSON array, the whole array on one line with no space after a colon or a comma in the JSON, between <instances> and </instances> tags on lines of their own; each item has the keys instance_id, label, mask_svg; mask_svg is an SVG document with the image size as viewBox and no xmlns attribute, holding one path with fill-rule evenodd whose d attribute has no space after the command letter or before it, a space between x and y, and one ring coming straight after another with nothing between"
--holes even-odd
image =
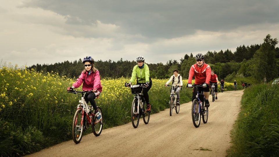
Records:
<instances>
[{"instance_id":1,"label":"bright lime-green jacket worn by the woman in white helmet","mask_svg":"<svg viewBox=\"0 0 279 157\"><path fill-rule=\"evenodd\" d=\"M142 69L139 68L138 65L135 65L132 72L132 77L129 82L134 82L137 76L137 82L139 83L150 83L149 82L149 67L144 63L144 67Z\"/></svg>"}]
</instances>

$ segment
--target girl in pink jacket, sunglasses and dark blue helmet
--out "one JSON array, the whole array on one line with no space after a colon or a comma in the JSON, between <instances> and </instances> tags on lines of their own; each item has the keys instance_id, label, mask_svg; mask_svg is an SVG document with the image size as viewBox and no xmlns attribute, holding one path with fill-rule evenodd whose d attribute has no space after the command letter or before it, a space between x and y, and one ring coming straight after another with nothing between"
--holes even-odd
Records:
<instances>
[{"instance_id":1,"label":"girl in pink jacket, sunglasses and dark blue helmet","mask_svg":"<svg viewBox=\"0 0 279 157\"><path fill-rule=\"evenodd\" d=\"M92 93L86 93L84 99L86 103L90 101L90 104L93 106L97 119L101 119L101 114L99 113L94 99L98 97L102 92L101 78L99 71L94 67L94 59L91 56L86 56L82 62L85 66L85 70L81 72L81 75L78 77L76 82L72 87L68 87L67 90L71 91L74 88L78 88L82 85L83 91L89 91Z\"/></svg>"}]
</instances>

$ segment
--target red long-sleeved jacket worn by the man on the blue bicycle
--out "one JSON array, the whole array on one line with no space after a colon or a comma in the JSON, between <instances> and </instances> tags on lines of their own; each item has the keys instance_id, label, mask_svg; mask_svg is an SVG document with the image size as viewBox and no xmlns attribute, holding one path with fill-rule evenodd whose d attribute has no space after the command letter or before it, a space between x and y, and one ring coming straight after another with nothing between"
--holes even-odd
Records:
<instances>
[{"instance_id":1,"label":"red long-sleeved jacket worn by the man on the blue bicycle","mask_svg":"<svg viewBox=\"0 0 279 157\"><path fill-rule=\"evenodd\" d=\"M203 83L209 84L211 76L211 68L208 64L203 63L202 67L198 67L198 64L192 65L189 71L188 83L192 83L192 78L195 76L195 84L201 85Z\"/></svg>"}]
</instances>

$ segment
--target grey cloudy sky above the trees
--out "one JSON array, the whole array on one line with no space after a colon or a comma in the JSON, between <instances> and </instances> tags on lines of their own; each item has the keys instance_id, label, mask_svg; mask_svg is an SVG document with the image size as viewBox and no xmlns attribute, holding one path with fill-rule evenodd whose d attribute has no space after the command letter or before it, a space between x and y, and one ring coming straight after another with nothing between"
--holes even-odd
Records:
<instances>
[{"instance_id":1,"label":"grey cloudy sky above the trees","mask_svg":"<svg viewBox=\"0 0 279 157\"><path fill-rule=\"evenodd\" d=\"M279 38L278 0L0 0L1 61L166 63ZM276 45L278 46L278 45Z\"/></svg>"}]
</instances>

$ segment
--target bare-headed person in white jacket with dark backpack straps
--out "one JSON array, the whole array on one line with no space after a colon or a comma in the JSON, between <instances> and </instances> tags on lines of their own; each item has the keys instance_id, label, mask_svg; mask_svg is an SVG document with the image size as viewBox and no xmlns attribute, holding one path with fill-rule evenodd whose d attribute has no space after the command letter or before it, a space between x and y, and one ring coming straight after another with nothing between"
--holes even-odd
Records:
<instances>
[{"instance_id":1,"label":"bare-headed person in white jacket with dark backpack straps","mask_svg":"<svg viewBox=\"0 0 279 157\"><path fill-rule=\"evenodd\" d=\"M171 83L172 81L172 83ZM169 81L167 81L167 83L165 84L165 86L167 86L169 83L171 83L172 86L176 86L178 85L179 87L176 88L176 105L180 105L179 103L179 99L180 99L180 89L183 85L182 82L182 76L180 76L180 74L178 74L178 70L174 69L174 75L171 76L171 78L169 79Z\"/></svg>"}]
</instances>

